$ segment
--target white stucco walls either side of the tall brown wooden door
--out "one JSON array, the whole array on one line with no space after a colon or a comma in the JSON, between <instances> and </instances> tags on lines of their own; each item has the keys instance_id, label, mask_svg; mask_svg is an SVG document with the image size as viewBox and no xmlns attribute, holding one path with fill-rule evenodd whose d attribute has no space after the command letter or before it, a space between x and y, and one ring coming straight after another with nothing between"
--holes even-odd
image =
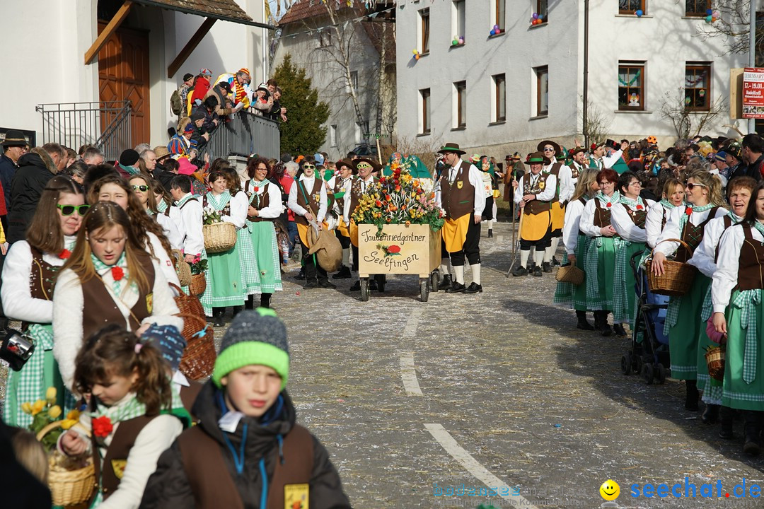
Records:
<instances>
[{"instance_id":1,"label":"white stucco walls either side of the tall brown wooden door","mask_svg":"<svg viewBox=\"0 0 764 509\"><path fill-rule=\"evenodd\" d=\"M97 3L97 0L2 2L2 60L11 74L0 81L0 93L14 100L6 101L0 126L36 130L37 143L41 144L42 117L34 110L36 105L98 101L98 60L84 64L85 52L98 34ZM263 22L261 1L237 0L237 3L254 21ZM263 79L263 38L267 38L267 31L225 21L215 23L176 76L168 79L167 66L202 21L200 16L141 5L135 5L128 16L126 26L149 31L151 140L145 141L152 146L167 143L167 127L176 121L170 113L170 95L185 72L196 73L207 67L217 77L247 66L253 73L253 82ZM12 77L14 74L18 78Z\"/></svg>"}]
</instances>

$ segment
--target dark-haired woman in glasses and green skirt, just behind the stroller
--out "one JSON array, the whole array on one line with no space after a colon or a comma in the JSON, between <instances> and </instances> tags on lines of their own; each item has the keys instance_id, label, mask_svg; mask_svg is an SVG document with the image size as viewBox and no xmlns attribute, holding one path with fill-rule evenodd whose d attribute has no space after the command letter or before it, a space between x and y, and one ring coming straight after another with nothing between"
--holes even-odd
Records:
<instances>
[{"instance_id":1,"label":"dark-haired woman in glasses and green skirt, just behind the stroller","mask_svg":"<svg viewBox=\"0 0 764 509\"><path fill-rule=\"evenodd\" d=\"M655 201L643 200L639 196L642 182L634 172L624 172L618 177L621 193L620 204L613 207L611 224L618 233L616 242L616 279L613 289L613 327L619 336L626 336L623 324L634 330L636 308L636 279L631 268L631 259L636 253L643 253L647 243L645 221L647 211ZM635 260L637 263L639 260Z\"/></svg>"}]
</instances>

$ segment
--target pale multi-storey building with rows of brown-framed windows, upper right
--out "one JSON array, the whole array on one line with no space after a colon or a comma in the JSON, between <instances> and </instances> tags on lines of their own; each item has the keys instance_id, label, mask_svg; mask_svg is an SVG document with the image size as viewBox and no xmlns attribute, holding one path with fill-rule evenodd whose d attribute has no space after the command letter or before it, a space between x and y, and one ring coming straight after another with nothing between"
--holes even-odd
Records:
<instances>
[{"instance_id":1,"label":"pale multi-storey building with rows of brown-framed windows, upper right","mask_svg":"<svg viewBox=\"0 0 764 509\"><path fill-rule=\"evenodd\" d=\"M547 4L401 0L399 137L432 146L455 142L497 158L529 153L549 138L583 144L584 2ZM674 143L675 128L662 109L688 99L693 125L724 103L702 134L738 136L723 126L735 123L730 69L744 66L747 55L725 55L724 38L700 37L705 5L591 0L588 113L606 124L607 137L653 135L662 146ZM533 23L534 14L542 21ZM496 25L500 31L491 35ZM744 121L737 125L746 132Z\"/></svg>"}]
</instances>

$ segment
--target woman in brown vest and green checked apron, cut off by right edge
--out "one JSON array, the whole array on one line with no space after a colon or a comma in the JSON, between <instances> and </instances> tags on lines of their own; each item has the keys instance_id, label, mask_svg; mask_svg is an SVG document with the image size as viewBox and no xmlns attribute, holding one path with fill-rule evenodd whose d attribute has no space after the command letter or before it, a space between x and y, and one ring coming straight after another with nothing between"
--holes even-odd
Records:
<instances>
[{"instance_id":1,"label":"woman in brown vest and green checked apron, cut off by right edge","mask_svg":"<svg viewBox=\"0 0 764 509\"><path fill-rule=\"evenodd\" d=\"M733 181L734 182L734 181ZM764 184L759 183L741 224L719 244L712 302L714 328L727 335L724 406L743 411L743 451L761 452L764 417Z\"/></svg>"}]
</instances>

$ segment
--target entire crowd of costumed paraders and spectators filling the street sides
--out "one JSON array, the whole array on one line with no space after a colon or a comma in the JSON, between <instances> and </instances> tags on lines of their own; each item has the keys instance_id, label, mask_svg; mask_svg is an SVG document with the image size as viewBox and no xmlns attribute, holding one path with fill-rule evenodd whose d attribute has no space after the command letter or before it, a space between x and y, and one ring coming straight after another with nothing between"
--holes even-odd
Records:
<instances>
[{"instance_id":1,"label":"entire crowd of costumed paraders and spectators filling the street sides","mask_svg":"<svg viewBox=\"0 0 764 509\"><path fill-rule=\"evenodd\" d=\"M50 444L55 461L92 458L89 507L350 507L329 453L295 424L286 327L271 298L294 253L303 288L336 288L330 272L353 279L355 212L380 178L401 172L441 209L439 288L449 294L483 292L481 229L486 223L493 237L500 199L519 217L513 276L541 277L555 265L583 272L578 284L559 281L554 297L575 309L578 329L626 336L639 320L643 296L635 288L648 272L662 275L669 261L696 267L688 292L666 303L665 324L652 325L665 327L685 408L698 410L702 400L704 422L719 421L724 438L734 437L741 414L743 450L759 454L761 137L698 137L665 149L655 137L571 150L544 140L503 164L479 154L464 160L464 150L446 143L432 172L406 153L393 153L387 166L354 153L334 162L325 153L252 154L237 169L199 158L212 131L245 108L280 121L286 110L277 83L253 91L247 69L211 78L208 69L184 77L171 99L180 121L167 146L141 143L115 161L92 146L30 148L20 132L6 134L0 325L21 321L34 343L26 356L14 331L2 343L12 368L2 433L11 433L19 461L37 475L19 485L45 483L57 466L47 456L40 463L39 444L33 436L29 445L24 430L47 414L66 416ZM206 227L215 225L235 239L208 252ZM327 236L336 245L334 271L311 253ZM184 264L203 279L201 289L182 284ZM382 292L385 282L375 275L371 289ZM359 289L356 279L350 290ZM222 327L231 308L206 383L180 368L192 338L178 299L189 293L211 322L202 335ZM709 375L704 356L716 344L726 347L723 381Z\"/></svg>"}]
</instances>

